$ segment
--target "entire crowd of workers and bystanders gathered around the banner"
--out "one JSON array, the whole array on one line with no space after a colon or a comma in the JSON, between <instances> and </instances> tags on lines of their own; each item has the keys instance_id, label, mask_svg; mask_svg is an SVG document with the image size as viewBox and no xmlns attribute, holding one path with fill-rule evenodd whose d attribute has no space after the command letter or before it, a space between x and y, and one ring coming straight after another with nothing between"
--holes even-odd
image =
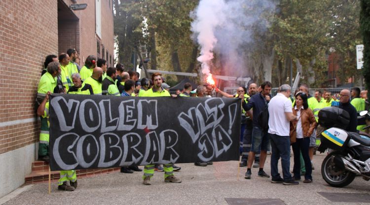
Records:
<instances>
[{"instance_id":1,"label":"entire crowd of workers and bystanders gathered around the banner","mask_svg":"<svg viewBox=\"0 0 370 205\"><path fill-rule=\"evenodd\" d=\"M165 83L160 73L153 73L151 79L141 78L138 72L125 70L122 64L107 66L107 61L90 55L80 68L76 60L78 53L68 49L58 57L49 55L45 58L44 69L37 89L37 114L41 117L38 156L48 161L49 120L48 97L50 93L80 95L114 95L133 97L214 97L219 94L226 98L242 100L240 132L240 167L247 167L246 179L252 178L252 167L259 168L258 176L269 178L263 168L267 153L271 153L272 183L296 185L301 175L304 183L312 182L312 158L316 147L316 128L320 109L339 102L339 107L349 112L350 125L345 129L350 132L362 130L365 118L358 112L369 109L367 91L352 88L344 89L338 95L331 92L316 91L309 94L307 85L300 85L292 96L292 88L284 84L278 94L271 96L272 84L268 81L260 86L251 83L248 88L239 87L235 95L222 92L210 84L199 85L193 90L190 83L185 83L183 90L171 95L170 86ZM269 117L263 117L268 113ZM266 121L268 120L268 121ZM266 125L268 124L268 127ZM239 137L239 136L238 136ZM293 176L290 172L291 147L294 153ZM278 172L278 160L281 158L283 177ZM196 166L212 165L212 162L196 162ZM147 165L144 167L143 184L150 185L154 171L164 171L166 182L180 183L174 171L181 168L174 164ZM143 171L138 166L122 167L121 172ZM73 191L77 187L75 171L61 171L58 189Z\"/></svg>"}]
</instances>

